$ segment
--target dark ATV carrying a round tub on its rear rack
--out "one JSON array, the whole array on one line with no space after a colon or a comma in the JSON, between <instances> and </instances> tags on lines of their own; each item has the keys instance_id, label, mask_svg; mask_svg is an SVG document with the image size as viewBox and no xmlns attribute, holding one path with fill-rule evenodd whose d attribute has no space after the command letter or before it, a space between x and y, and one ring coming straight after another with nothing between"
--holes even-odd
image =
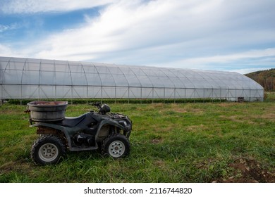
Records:
<instances>
[{"instance_id":1,"label":"dark ATV carrying a round tub on its rear rack","mask_svg":"<svg viewBox=\"0 0 275 197\"><path fill-rule=\"evenodd\" d=\"M110 113L106 104L93 103L79 117L65 117L66 101L27 103L30 127L37 127L38 139L32 144L31 158L39 165L59 163L66 151L100 150L103 155L123 158L130 153L132 121L128 116Z\"/></svg>"}]
</instances>

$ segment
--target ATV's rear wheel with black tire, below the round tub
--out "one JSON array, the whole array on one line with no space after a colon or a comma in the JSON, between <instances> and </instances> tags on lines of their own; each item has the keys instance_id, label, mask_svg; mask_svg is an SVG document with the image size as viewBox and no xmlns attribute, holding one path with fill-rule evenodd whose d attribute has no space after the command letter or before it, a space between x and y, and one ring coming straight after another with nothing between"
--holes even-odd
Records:
<instances>
[{"instance_id":1,"label":"ATV's rear wheel with black tire, below the round tub","mask_svg":"<svg viewBox=\"0 0 275 197\"><path fill-rule=\"evenodd\" d=\"M31 158L36 164L56 164L65 152L65 145L58 136L42 135L32 145Z\"/></svg>"}]
</instances>

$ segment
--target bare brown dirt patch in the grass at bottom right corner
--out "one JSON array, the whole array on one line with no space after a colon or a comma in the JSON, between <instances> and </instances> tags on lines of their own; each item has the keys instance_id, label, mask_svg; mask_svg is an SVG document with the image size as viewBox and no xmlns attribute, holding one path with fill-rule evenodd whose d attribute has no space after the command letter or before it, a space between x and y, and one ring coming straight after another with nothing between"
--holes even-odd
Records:
<instances>
[{"instance_id":1,"label":"bare brown dirt patch in the grass at bottom right corner","mask_svg":"<svg viewBox=\"0 0 275 197\"><path fill-rule=\"evenodd\" d=\"M239 158L228 165L233 175L214 182L221 183L274 183L275 172L270 172L255 160Z\"/></svg>"}]
</instances>

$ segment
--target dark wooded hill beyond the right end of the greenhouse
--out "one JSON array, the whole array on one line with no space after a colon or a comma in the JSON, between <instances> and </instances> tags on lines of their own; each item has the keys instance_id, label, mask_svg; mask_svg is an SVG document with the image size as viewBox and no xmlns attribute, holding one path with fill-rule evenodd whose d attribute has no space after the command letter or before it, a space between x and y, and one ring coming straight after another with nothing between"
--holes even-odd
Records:
<instances>
[{"instance_id":1,"label":"dark wooded hill beyond the right end of the greenhouse","mask_svg":"<svg viewBox=\"0 0 275 197\"><path fill-rule=\"evenodd\" d=\"M260 70L245 74L264 87L264 91L275 91L275 68L269 70Z\"/></svg>"}]
</instances>

